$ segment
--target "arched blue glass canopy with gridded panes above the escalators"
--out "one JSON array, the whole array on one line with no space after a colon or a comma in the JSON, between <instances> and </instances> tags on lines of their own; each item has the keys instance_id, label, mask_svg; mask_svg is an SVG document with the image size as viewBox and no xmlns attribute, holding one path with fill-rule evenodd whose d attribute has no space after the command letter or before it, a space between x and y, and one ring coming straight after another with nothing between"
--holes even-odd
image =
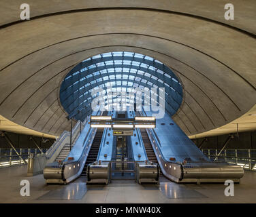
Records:
<instances>
[{"instance_id":1,"label":"arched blue glass canopy with gridded panes above the escalators","mask_svg":"<svg viewBox=\"0 0 256 217\"><path fill-rule=\"evenodd\" d=\"M182 85L170 68L150 56L110 52L76 65L61 83L60 100L69 117L84 121L86 116L91 115L91 102L99 96L93 94L97 90L101 90L106 104L113 104L118 102L118 98L109 102L108 97L103 96L109 90L130 93L135 88L150 91L152 87L164 87L165 111L174 115L182 103ZM161 94L157 94L157 98L161 98ZM127 105L135 100L127 98Z\"/></svg>"}]
</instances>

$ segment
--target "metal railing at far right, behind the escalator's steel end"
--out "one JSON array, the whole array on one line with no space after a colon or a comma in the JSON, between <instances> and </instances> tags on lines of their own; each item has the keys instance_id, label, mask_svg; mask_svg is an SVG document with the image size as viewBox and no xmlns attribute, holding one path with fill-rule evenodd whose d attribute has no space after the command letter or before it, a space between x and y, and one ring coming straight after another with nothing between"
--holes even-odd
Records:
<instances>
[{"instance_id":1,"label":"metal railing at far right, behind the escalator's steel end","mask_svg":"<svg viewBox=\"0 0 256 217\"><path fill-rule=\"evenodd\" d=\"M216 159L256 172L256 149L224 149L220 154L219 149L202 149L202 152L212 161Z\"/></svg>"}]
</instances>

